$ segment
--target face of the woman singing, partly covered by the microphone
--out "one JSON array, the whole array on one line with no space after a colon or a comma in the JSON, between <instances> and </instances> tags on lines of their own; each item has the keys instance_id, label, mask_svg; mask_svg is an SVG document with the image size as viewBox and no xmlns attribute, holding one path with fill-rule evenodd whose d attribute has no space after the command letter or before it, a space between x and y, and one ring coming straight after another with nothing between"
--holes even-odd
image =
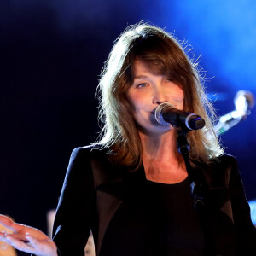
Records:
<instances>
[{"instance_id":1,"label":"face of the woman singing, partly covered by the microphone","mask_svg":"<svg viewBox=\"0 0 256 256\"><path fill-rule=\"evenodd\" d=\"M184 93L181 84L165 75L155 75L143 61L134 63L134 81L127 96L133 108L134 118L148 135L160 135L172 129L172 125L160 125L154 118L154 111L160 103L169 102L177 109L183 109Z\"/></svg>"}]
</instances>

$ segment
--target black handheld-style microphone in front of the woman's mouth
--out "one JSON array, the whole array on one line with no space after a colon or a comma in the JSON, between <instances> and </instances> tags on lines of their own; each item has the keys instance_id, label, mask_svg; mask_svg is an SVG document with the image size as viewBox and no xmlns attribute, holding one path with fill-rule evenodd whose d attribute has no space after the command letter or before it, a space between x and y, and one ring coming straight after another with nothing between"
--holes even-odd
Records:
<instances>
[{"instance_id":1,"label":"black handheld-style microphone in front of the woman's mouth","mask_svg":"<svg viewBox=\"0 0 256 256\"><path fill-rule=\"evenodd\" d=\"M160 125L172 125L183 130L199 130L205 126L205 120L195 113L174 108L170 103L161 103L154 112L154 117Z\"/></svg>"}]
</instances>

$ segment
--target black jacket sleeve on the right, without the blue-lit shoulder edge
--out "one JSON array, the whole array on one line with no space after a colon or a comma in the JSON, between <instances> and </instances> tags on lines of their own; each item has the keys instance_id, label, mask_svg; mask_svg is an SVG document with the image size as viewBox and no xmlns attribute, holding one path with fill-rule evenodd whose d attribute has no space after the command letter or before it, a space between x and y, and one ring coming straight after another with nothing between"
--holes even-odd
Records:
<instances>
[{"instance_id":1,"label":"black jacket sleeve on the right, without the blue-lit shoulder edge","mask_svg":"<svg viewBox=\"0 0 256 256\"><path fill-rule=\"evenodd\" d=\"M255 256L256 229L251 220L250 207L234 158L230 173L230 193L238 255Z\"/></svg>"}]
</instances>

